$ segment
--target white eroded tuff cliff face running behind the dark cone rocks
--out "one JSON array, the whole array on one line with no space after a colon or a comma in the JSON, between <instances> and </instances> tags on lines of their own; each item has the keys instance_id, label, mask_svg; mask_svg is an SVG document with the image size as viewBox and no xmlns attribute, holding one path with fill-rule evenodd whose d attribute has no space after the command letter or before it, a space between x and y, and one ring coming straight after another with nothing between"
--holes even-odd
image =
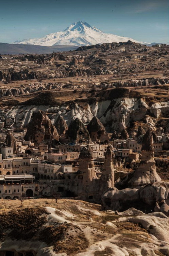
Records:
<instances>
[{"instance_id":1,"label":"white eroded tuff cliff face running behind the dark cone rocks","mask_svg":"<svg viewBox=\"0 0 169 256\"><path fill-rule=\"evenodd\" d=\"M87 106L85 104L84 107L83 103L76 103L71 110L69 110L70 107L66 104L53 107L35 105L15 106L7 113L7 117L23 118L23 123L27 126L32 113L41 109L44 112L51 113L52 124L55 123L58 115L63 116L68 126L77 117L87 124L93 116L97 116L107 130L122 131L131 121L143 118L148 109L148 105L143 99L118 98L112 102L106 100L91 105L87 104ZM109 110L106 112L108 108ZM111 123L112 125L106 126L106 123Z\"/></svg>"}]
</instances>

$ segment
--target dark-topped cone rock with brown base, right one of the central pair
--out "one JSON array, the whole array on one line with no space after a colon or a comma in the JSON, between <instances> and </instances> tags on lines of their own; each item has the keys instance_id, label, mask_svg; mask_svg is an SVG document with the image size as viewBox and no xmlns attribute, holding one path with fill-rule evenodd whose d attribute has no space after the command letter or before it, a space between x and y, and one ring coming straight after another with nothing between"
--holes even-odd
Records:
<instances>
[{"instance_id":1,"label":"dark-topped cone rock with brown base, right one of the central pair","mask_svg":"<svg viewBox=\"0 0 169 256\"><path fill-rule=\"evenodd\" d=\"M87 130L89 131L92 141L105 142L109 139L105 127L96 116L94 116L87 125Z\"/></svg>"}]
</instances>

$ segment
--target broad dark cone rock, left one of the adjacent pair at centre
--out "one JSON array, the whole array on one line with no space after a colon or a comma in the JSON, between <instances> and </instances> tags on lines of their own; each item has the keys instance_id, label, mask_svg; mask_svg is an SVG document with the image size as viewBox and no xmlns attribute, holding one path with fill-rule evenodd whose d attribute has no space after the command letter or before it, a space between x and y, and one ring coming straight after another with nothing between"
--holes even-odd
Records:
<instances>
[{"instance_id":1,"label":"broad dark cone rock, left one of the adjacent pair at centre","mask_svg":"<svg viewBox=\"0 0 169 256\"><path fill-rule=\"evenodd\" d=\"M66 131L66 136L72 143L87 142L91 143L90 135L83 122L76 118Z\"/></svg>"}]
</instances>

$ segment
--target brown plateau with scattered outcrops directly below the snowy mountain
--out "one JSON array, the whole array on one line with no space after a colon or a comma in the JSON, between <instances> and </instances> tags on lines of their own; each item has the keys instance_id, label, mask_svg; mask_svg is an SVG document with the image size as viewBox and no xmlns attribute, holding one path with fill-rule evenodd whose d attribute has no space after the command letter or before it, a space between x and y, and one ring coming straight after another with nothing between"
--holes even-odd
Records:
<instances>
[{"instance_id":1,"label":"brown plateau with scattered outcrops directly below the snowy mountain","mask_svg":"<svg viewBox=\"0 0 169 256\"><path fill-rule=\"evenodd\" d=\"M165 77L168 52L168 46L148 47L128 41L83 46L62 54L2 55L0 81L95 75L112 75L117 80ZM146 85L148 82L152 81L146 81Z\"/></svg>"}]
</instances>

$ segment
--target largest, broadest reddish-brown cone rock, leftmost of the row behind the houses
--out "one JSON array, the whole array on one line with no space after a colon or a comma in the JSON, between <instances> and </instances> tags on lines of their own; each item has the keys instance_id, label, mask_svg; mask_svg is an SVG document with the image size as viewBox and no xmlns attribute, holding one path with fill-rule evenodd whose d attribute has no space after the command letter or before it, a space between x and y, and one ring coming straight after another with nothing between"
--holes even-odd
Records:
<instances>
[{"instance_id":1,"label":"largest, broadest reddish-brown cone rock, leftmost of the row behind the houses","mask_svg":"<svg viewBox=\"0 0 169 256\"><path fill-rule=\"evenodd\" d=\"M35 145L39 145L43 141L48 143L52 139L58 140L59 135L45 112L39 110L33 113L24 139L26 141L31 140L35 142Z\"/></svg>"}]
</instances>

